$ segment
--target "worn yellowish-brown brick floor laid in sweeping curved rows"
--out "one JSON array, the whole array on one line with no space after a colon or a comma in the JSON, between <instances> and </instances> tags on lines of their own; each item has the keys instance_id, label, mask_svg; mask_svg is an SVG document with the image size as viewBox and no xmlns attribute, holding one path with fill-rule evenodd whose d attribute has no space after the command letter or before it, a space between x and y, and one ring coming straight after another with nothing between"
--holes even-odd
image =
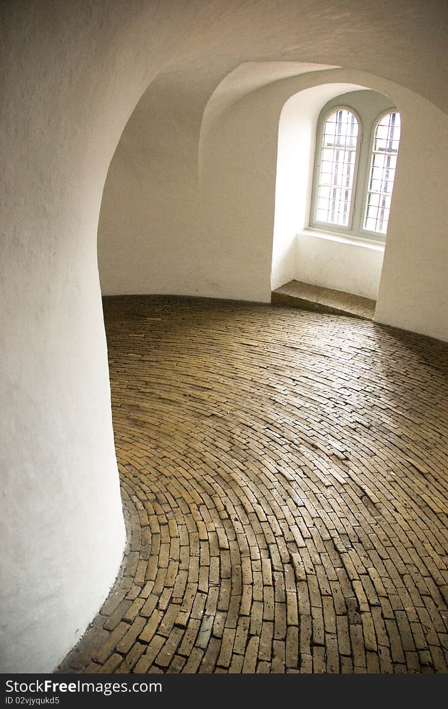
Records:
<instances>
[{"instance_id":1,"label":"worn yellowish-brown brick floor laid in sweeping curved rows","mask_svg":"<svg viewBox=\"0 0 448 709\"><path fill-rule=\"evenodd\" d=\"M60 669L447 671L448 347L250 303L105 317L128 549Z\"/></svg>"}]
</instances>

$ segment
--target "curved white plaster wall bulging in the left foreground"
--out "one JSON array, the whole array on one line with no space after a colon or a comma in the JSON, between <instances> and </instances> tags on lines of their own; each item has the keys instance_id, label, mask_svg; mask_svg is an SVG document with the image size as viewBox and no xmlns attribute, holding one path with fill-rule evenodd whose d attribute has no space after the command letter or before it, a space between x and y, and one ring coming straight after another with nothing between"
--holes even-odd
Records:
<instances>
[{"instance_id":1,"label":"curved white plaster wall bulging in the left foreground","mask_svg":"<svg viewBox=\"0 0 448 709\"><path fill-rule=\"evenodd\" d=\"M96 225L123 126L186 29L157 5L1 4L3 672L52 671L123 556Z\"/></svg>"}]
</instances>

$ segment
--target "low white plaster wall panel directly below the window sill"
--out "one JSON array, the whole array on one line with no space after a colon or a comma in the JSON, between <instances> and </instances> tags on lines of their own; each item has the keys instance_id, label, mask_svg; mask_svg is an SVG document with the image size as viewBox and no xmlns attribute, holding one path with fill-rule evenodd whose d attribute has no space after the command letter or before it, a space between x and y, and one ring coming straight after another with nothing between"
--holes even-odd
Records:
<instances>
[{"instance_id":1,"label":"low white plaster wall panel directly below the window sill","mask_svg":"<svg viewBox=\"0 0 448 709\"><path fill-rule=\"evenodd\" d=\"M294 278L376 300L384 246L311 231L296 235Z\"/></svg>"}]
</instances>

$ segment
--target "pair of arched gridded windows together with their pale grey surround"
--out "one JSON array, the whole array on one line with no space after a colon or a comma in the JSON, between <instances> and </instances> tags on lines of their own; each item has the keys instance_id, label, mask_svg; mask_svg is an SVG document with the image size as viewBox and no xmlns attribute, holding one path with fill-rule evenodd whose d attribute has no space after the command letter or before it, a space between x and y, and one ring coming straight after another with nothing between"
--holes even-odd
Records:
<instances>
[{"instance_id":1,"label":"pair of arched gridded windows together with their pale grey surround","mask_svg":"<svg viewBox=\"0 0 448 709\"><path fill-rule=\"evenodd\" d=\"M310 227L384 240L396 174L401 117L374 91L328 102L316 131ZM382 110L381 110L382 108ZM388 108L388 110L386 110Z\"/></svg>"}]
</instances>

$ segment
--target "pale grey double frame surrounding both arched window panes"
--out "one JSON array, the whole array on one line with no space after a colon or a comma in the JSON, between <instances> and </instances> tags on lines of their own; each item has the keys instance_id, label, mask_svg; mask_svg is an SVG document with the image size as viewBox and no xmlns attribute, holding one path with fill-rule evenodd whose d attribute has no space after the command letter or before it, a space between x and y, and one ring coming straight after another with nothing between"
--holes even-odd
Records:
<instances>
[{"instance_id":1,"label":"pale grey double frame surrounding both arched window panes","mask_svg":"<svg viewBox=\"0 0 448 709\"><path fill-rule=\"evenodd\" d=\"M335 99L337 98L338 97L335 96ZM340 98L342 99L343 96L340 96ZM335 99L332 99L332 101ZM350 111L350 113L353 113L358 121L357 155L353 175L352 199L349 206L349 221L346 226L318 221L316 218L318 211L319 178L323 155L323 136L325 133L325 124L332 113L340 110ZM318 116L315 130L315 157L313 163L313 175L311 179L310 216L308 228L324 234L342 235L348 238L380 242L382 244L386 242L387 231L386 234L384 234L378 231L364 229L364 221L376 128L384 116L388 116L390 113L400 114L401 128L403 128L403 117L401 116L401 112L397 106L394 106L393 104L390 104L390 107L388 108L384 108L381 113L373 113L373 111L371 111L370 116L367 118L364 116L364 125L359 111L357 111L357 108L354 108L354 106L341 102L340 104L335 104L335 106L330 108L326 108L325 106L323 107ZM397 168L399 152L400 146L398 145ZM395 178L393 186L395 187Z\"/></svg>"}]
</instances>

